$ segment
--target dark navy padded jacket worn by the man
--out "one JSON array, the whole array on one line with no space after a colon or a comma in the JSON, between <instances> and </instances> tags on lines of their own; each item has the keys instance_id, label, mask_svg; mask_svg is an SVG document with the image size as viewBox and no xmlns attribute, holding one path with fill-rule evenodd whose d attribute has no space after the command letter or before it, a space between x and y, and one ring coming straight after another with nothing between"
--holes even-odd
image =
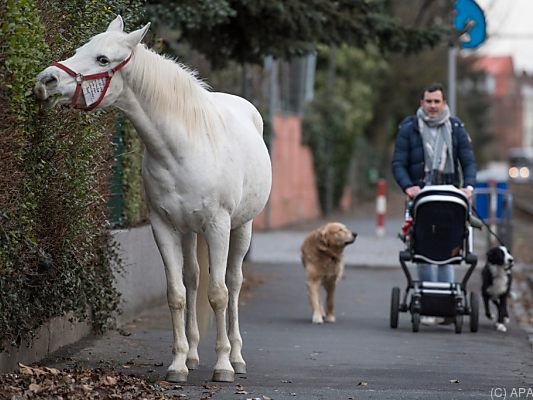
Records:
<instances>
[{"instance_id":1,"label":"dark navy padded jacket worn by the man","mask_svg":"<svg viewBox=\"0 0 533 400\"><path fill-rule=\"evenodd\" d=\"M476 161L470 136L465 130L463 122L451 117L452 143L454 159L453 184L461 187L475 186L476 184ZM392 173L394 179L402 190L410 186L424 186L424 149L422 147L422 137L418 129L418 121L415 116L404 119L399 127L396 136L396 146L392 158Z\"/></svg>"}]
</instances>

